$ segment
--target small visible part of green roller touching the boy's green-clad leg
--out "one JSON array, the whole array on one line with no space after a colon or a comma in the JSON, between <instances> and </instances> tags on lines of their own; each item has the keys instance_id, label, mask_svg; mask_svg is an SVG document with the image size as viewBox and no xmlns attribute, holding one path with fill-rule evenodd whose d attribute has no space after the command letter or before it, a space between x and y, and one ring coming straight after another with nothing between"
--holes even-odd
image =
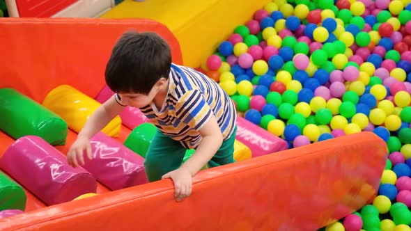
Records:
<instances>
[{"instance_id":1,"label":"small visible part of green roller touching the boy's green-clad leg","mask_svg":"<svg viewBox=\"0 0 411 231\"><path fill-rule=\"evenodd\" d=\"M145 122L130 132L127 139L124 141L124 145L130 148L133 152L136 152L141 157L146 158L148 148L150 148L150 143L157 132L157 127L153 124Z\"/></svg>"}]
</instances>

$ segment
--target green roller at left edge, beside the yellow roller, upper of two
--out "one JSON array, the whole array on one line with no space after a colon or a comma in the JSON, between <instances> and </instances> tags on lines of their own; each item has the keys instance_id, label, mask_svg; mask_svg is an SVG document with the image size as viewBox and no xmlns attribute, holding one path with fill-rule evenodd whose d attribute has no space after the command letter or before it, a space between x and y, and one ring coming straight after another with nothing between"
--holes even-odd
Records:
<instances>
[{"instance_id":1,"label":"green roller at left edge, beside the yellow roller, upper of two","mask_svg":"<svg viewBox=\"0 0 411 231\"><path fill-rule=\"evenodd\" d=\"M34 135L52 145L65 143L65 121L13 88L0 89L0 115L0 129L15 139Z\"/></svg>"}]
</instances>

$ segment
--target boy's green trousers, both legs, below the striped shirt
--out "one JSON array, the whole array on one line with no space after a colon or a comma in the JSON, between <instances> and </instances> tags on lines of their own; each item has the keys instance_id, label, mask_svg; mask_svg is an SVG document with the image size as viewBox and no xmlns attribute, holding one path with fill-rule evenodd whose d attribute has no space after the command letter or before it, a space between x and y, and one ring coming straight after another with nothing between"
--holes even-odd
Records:
<instances>
[{"instance_id":1,"label":"boy's green trousers, both legs, below the striped shirt","mask_svg":"<svg viewBox=\"0 0 411 231\"><path fill-rule=\"evenodd\" d=\"M212 168L235 162L233 157L235 132L237 132L237 127L230 138L223 141L214 157L208 161L208 167ZM148 180L150 182L161 180L162 175L180 168L186 151L187 149L179 141L174 141L157 130L144 160Z\"/></svg>"}]
</instances>

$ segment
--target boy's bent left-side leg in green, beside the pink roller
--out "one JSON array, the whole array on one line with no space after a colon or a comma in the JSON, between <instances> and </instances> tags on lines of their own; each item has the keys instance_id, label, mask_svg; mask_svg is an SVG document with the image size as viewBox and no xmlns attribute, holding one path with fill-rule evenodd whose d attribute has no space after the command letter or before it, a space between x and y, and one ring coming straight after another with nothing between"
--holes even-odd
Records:
<instances>
[{"instance_id":1,"label":"boy's bent left-side leg in green, beside the pink roller","mask_svg":"<svg viewBox=\"0 0 411 231\"><path fill-rule=\"evenodd\" d=\"M164 174L179 168L185 151L180 142L157 131L144 160L148 181L161 180Z\"/></svg>"}]
</instances>

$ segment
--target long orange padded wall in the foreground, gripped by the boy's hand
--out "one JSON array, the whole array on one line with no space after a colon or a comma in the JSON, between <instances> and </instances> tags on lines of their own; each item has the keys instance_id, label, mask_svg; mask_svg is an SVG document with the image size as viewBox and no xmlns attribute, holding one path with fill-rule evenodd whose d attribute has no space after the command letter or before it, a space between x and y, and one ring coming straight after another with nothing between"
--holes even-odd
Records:
<instances>
[{"instance_id":1,"label":"long orange padded wall in the foreground, gripped by the boy's hand","mask_svg":"<svg viewBox=\"0 0 411 231\"><path fill-rule=\"evenodd\" d=\"M161 180L0 220L0 230L315 230L375 197L387 146L371 132L209 168L192 196Z\"/></svg>"}]
</instances>

